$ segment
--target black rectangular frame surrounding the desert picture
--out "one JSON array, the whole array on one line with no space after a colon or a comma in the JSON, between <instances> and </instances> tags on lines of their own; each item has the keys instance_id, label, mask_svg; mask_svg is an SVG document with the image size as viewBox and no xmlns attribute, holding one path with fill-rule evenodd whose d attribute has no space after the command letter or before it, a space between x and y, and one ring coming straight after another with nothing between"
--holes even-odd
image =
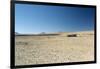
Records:
<instances>
[{"instance_id":1,"label":"black rectangular frame surrounding the desert picture","mask_svg":"<svg viewBox=\"0 0 100 69\"><path fill-rule=\"evenodd\" d=\"M53 63L53 64L37 64L37 65L18 65L15 66L15 4L36 4L36 5L53 5L53 6L70 6L70 7L83 7L83 8L95 8L95 35L94 35L94 61L84 61L84 62L68 62L68 63ZM11 36L10 36L10 68L30 68L30 67L47 67L47 66L60 66L60 65L77 65L77 64L90 64L96 63L96 6L95 5L80 5L80 4L64 4L64 3L49 3L49 2L34 2L34 1L11 1Z\"/></svg>"}]
</instances>

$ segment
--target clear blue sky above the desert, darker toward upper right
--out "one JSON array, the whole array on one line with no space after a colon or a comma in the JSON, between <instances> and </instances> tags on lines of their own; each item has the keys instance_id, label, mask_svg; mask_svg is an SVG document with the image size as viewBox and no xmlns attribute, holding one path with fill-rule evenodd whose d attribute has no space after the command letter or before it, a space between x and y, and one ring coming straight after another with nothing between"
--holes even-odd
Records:
<instances>
[{"instance_id":1,"label":"clear blue sky above the desert, darker toward upper right","mask_svg":"<svg viewBox=\"0 0 100 69\"><path fill-rule=\"evenodd\" d=\"M76 32L94 29L94 8L15 5L15 32Z\"/></svg>"}]
</instances>

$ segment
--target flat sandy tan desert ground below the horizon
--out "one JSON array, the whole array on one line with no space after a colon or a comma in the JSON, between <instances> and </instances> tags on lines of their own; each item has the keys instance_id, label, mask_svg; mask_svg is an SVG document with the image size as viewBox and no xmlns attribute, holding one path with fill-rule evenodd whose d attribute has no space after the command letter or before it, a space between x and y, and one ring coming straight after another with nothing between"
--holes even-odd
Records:
<instances>
[{"instance_id":1,"label":"flat sandy tan desert ground below the horizon","mask_svg":"<svg viewBox=\"0 0 100 69\"><path fill-rule=\"evenodd\" d=\"M73 33L77 36L67 36ZM94 31L73 33L16 36L15 65L93 61Z\"/></svg>"}]
</instances>

